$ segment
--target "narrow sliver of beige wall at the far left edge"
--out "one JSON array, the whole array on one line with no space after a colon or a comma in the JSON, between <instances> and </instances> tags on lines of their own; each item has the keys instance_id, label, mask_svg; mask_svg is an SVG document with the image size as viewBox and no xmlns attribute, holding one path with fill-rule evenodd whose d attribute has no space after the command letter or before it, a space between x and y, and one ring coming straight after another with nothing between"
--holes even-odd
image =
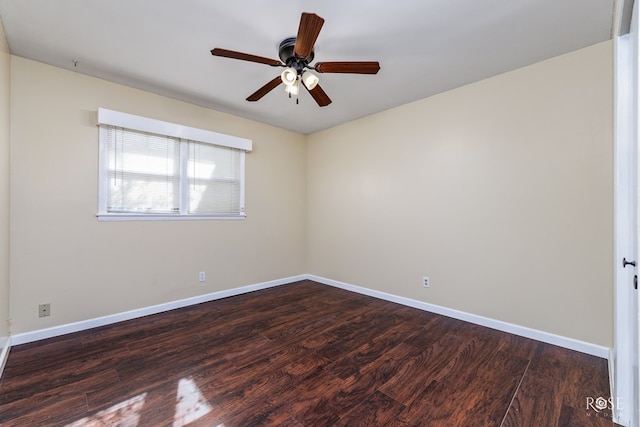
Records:
<instances>
[{"instance_id":1,"label":"narrow sliver of beige wall at the far left edge","mask_svg":"<svg viewBox=\"0 0 640 427\"><path fill-rule=\"evenodd\" d=\"M0 343L9 335L9 141L11 55L0 19ZM0 349L1 349L0 345ZM1 361L0 361L1 363Z\"/></svg>"}]
</instances>

